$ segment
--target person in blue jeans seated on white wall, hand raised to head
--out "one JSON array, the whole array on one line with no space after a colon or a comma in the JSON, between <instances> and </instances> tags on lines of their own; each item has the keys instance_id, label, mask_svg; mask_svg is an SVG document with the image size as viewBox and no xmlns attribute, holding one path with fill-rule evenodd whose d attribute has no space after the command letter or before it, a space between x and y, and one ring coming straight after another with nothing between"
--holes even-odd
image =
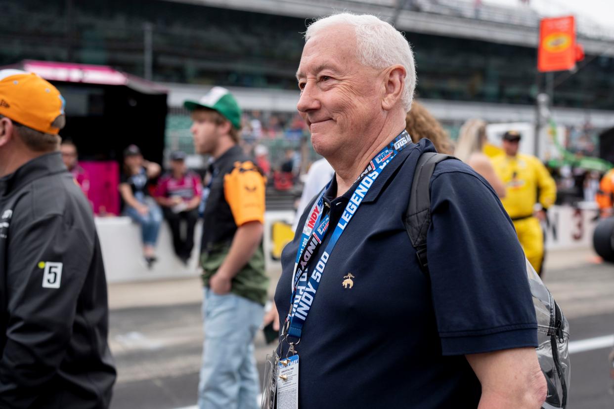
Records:
<instances>
[{"instance_id":1,"label":"person in blue jeans seated on white wall, hand raised to head","mask_svg":"<svg viewBox=\"0 0 614 409\"><path fill-rule=\"evenodd\" d=\"M144 160L136 145L123 151L123 173L119 185L123 212L141 224L143 257L149 269L157 261L155 244L162 222L162 211L149 192L149 185L158 175L160 165Z\"/></svg>"}]
</instances>

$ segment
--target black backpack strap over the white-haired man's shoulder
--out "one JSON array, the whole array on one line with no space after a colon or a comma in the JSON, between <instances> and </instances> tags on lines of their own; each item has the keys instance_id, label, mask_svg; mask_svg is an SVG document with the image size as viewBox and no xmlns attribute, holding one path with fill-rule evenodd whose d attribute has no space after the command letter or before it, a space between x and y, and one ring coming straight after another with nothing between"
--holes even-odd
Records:
<instances>
[{"instance_id":1,"label":"black backpack strap over the white-haired man's shoulder","mask_svg":"<svg viewBox=\"0 0 614 409\"><path fill-rule=\"evenodd\" d=\"M411 182L410 204L405 212L405 229L410 236L411 245L416 249L416 256L424 273L429 272L426 234L430 225L430 177L435 172L435 166L446 159L457 158L435 152L420 155Z\"/></svg>"}]
</instances>

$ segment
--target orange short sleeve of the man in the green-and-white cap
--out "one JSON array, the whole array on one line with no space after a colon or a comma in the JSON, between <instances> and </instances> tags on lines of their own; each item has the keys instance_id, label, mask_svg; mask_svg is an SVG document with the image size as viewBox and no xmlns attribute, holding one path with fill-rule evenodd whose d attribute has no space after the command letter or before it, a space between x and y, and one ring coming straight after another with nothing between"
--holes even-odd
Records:
<instances>
[{"instance_id":1,"label":"orange short sleeve of the man in the green-and-white cap","mask_svg":"<svg viewBox=\"0 0 614 409\"><path fill-rule=\"evenodd\" d=\"M236 162L224 177L224 196L237 226L265 220L265 179L252 162Z\"/></svg>"}]
</instances>

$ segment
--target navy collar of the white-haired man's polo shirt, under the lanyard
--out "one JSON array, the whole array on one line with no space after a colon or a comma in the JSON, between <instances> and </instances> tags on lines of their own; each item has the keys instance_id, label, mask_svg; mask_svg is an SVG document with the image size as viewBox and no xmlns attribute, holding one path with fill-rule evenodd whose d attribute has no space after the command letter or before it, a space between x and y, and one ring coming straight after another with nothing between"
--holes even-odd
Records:
<instances>
[{"instance_id":1,"label":"navy collar of the white-haired man's polo shirt, under the lanyard","mask_svg":"<svg viewBox=\"0 0 614 409\"><path fill-rule=\"evenodd\" d=\"M411 143L408 147L400 151L397 156L395 156L395 158L392 159L392 161L386 165L386 167L375 180L375 182L373 182L373 185L371 185L371 188L365 195L365 198L362 200L362 202L375 201L381 191L384 189L384 186L387 185L388 180L397 173L397 169L403 164L403 162L405 162L407 159L410 159L415 163L418 161L419 156L422 155L422 153L424 152L436 152L433 143L430 142L430 140L428 139L421 139L418 143ZM354 189L356 189L357 183L359 183L359 181L354 183L354 185L352 185L352 187L349 188L348 191L346 191L340 197L344 197L344 199L349 200L350 197L352 197L352 193L354 193ZM411 180L408 183L411 183ZM330 186L328 187L328 190L325 191L323 197L324 203L327 204L328 207L330 207L330 203L335 200L336 193L337 180L335 174L333 175L332 183L330 183Z\"/></svg>"}]
</instances>

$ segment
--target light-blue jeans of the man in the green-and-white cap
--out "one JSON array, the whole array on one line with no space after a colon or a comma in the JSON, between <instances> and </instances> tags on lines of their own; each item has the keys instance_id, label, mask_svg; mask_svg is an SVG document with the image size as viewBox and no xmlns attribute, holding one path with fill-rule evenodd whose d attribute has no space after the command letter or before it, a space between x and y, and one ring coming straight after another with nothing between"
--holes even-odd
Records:
<instances>
[{"instance_id":1,"label":"light-blue jeans of the man in the green-and-white cap","mask_svg":"<svg viewBox=\"0 0 614 409\"><path fill-rule=\"evenodd\" d=\"M198 383L200 409L257 409L260 381L254 337L264 316L262 305L204 288L203 363Z\"/></svg>"}]
</instances>

